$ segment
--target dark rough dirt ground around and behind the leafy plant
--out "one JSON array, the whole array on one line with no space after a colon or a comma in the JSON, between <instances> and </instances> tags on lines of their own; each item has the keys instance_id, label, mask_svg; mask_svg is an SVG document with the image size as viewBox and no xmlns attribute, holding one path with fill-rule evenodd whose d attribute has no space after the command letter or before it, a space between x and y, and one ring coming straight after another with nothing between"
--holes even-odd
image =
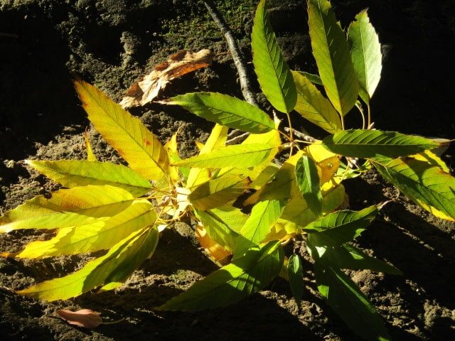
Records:
<instances>
[{"instance_id":1,"label":"dark rough dirt ground around and behind the leafy plant","mask_svg":"<svg viewBox=\"0 0 455 341\"><path fill-rule=\"evenodd\" d=\"M251 60L248 40L257 1L216 2ZM373 98L376 126L454 138L454 1L333 0L333 4L343 26L369 7L380 35L385 61ZM289 64L314 72L302 1L272 1L271 7ZM70 72L119 100L137 77L181 48L211 48L215 63L176 80L163 97L195 90L240 97L223 37L199 1L1 0L0 213L57 188L43 176L30 175L19 161L85 157L82 132L88 121ZM191 153L193 141L210 131L205 121L176 108L166 108L165 113L159 104L132 113L161 141L182 126L183 153ZM351 126L358 124L355 115L350 119ZM299 124L320 134L305 122ZM90 131L90 136L100 158L118 161L97 134ZM452 173L454 157L451 147L444 160ZM422 211L377 173L348 180L346 188L353 209L393 200L358 244L390 261L405 276L351 274L378 308L393 339L455 340L455 224ZM119 290L87 293L70 301L44 303L17 296L8 288L63 276L89 255L43 261L0 259L0 340L358 340L314 296L311 264L305 264L308 291L300 309L288 284L277 279L267 290L228 308L196 314L154 312L154 306L215 269L194 244L190 229L181 225L164 232L156 254ZM1 236L0 250L18 249L40 235ZM55 318L59 308L91 308L105 320L124 320L87 331Z\"/></svg>"}]
</instances>

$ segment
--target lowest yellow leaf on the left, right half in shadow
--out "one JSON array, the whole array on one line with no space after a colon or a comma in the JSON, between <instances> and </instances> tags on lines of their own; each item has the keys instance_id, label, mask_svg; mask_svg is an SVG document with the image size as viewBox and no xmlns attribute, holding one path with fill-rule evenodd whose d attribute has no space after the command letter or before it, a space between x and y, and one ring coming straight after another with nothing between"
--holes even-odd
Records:
<instances>
[{"instance_id":1,"label":"lowest yellow leaf on the left, right half in shadow","mask_svg":"<svg viewBox=\"0 0 455 341\"><path fill-rule=\"evenodd\" d=\"M145 227L122 239L105 256L89 261L73 274L39 283L18 293L55 301L79 296L99 286L105 286L105 290L114 288L154 253L158 237L156 227Z\"/></svg>"}]
</instances>

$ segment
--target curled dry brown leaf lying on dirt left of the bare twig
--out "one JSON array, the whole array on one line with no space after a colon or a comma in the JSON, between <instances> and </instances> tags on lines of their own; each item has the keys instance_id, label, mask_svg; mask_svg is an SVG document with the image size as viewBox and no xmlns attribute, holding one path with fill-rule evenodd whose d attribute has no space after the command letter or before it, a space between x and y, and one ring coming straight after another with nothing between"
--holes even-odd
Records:
<instances>
[{"instance_id":1,"label":"curled dry brown leaf lying on dirt left of the bare twig","mask_svg":"<svg viewBox=\"0 0 455 341\"><path fill-rule=\"evenodd\" d=\"M181 77L188 72L206 67L212 63L213 53L210 50L191 52L178 51L171 55L166 62L156 65L149 75L134 83L123 97L120 105L123 108L139 107L147 104L158 96L158 93L173 79Z\"/></svg>"}]
</instances>

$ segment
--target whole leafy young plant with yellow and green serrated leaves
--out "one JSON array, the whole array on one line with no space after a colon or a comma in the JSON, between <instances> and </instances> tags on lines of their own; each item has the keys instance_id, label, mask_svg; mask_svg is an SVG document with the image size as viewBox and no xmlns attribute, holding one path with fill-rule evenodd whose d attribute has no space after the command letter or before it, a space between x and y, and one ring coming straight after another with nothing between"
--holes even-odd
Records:
<instances>
[{"instance_id":1,"label":"whole leafy young plant with yellow and green serrated leaves","mask_svg":"<svg viewBox=\"0 0 455 341\"><path fill-rule=\"evenodd\" d=\"M289 69L269 23L267 1L259 3L252 32L259 85L286 117L289 134L279 129L278 119L240 99L213 92L183 94L166 103L216 124L205 144L198 145L199 155L181 160L176 135L161 145L139 119L100 90L76 81L90 121L129 167L97 161L88 143L86 161L28 161L64 189L7 212L0 218L0 232L56 229L57 234L2 255L38 259L107 253L73 274L18 293L54 301L115 288L153 254L161 229L192 217L200 244L225 265L157 309L196 311L235 303L279 274L289 279L296 301L301 301L301 258L293 254L287 260L282 246L301 236L327 303L365 339L390 340L373 305L343 272L400 274L349 244L383 204L341 210L346 207L342 181L374 167L429 212L455 220L455 179L432 152L439 142L372 129L370 99L382 66L367 12L355 17L347 37L328 1L309 0L308 13L319 75ZM362 116L366 108L368 116L360 129L346 130L344 117L354 107ZM293 110L329 135L321 141L296 139ZM226 145L229 128L250 136ZM273 160L281 151L289 151L289 157L277 166ZM239 204L246 193L252 194ZM250 214L245 214L249 207Z\"/></svg>"}]
</instances>

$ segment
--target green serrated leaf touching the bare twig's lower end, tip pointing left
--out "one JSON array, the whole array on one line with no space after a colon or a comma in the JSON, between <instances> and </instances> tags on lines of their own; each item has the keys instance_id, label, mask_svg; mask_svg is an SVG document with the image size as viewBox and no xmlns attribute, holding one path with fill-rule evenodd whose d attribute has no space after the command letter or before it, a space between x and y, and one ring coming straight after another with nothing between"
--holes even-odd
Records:
<instances>
[{"instance_id":1,"label":"green serrated leaf touching the bare twig's lower end, tip pointing left","mask_svg":"<svg viewBox=\"0 0 455 341\"><path fill-rule=\"evenodd\" d=\"M180 105L208 121L252 134L275 129L274 121L261 109L227 94L193 92L172 97L166 104Z\"/></svg>"}]
</instances>

